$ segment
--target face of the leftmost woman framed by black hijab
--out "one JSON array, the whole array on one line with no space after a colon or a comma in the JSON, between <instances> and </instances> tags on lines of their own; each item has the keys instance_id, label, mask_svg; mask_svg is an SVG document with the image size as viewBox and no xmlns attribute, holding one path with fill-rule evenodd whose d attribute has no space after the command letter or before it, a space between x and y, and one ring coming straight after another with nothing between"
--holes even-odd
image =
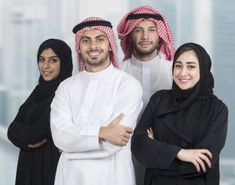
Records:
<instances>
[{"instance_id":1,"label":"face of the leftmost woman framed by black hijab","mask_svg":"<svg viewBox=\"0 0 235 185\"><path fill-rule=\"evenodd\" d=\"M55 79L60 74L60 59L51 49L45 49L39 56L38 68L45 81Z\"/></svg>"}]
</instances>

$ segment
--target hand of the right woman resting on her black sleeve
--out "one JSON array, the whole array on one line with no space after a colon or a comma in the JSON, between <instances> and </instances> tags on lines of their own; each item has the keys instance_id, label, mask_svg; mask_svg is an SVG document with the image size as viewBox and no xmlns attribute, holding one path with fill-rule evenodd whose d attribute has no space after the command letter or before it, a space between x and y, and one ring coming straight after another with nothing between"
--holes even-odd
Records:
<instances>
[{"instance_id":1,"label":"hand of the right woman resting on her black sleeve","mask_svg":"<svg viewBox=\"0 0 235 185\"><path fill-rule=\"evenodd\" d=\"M184 162L192 163L198 172L202 171L206 172L207 164L211 168L211 159L212 154L207 149L181 149L178 154L177 158Z\"/></svg>"}]
</instances>

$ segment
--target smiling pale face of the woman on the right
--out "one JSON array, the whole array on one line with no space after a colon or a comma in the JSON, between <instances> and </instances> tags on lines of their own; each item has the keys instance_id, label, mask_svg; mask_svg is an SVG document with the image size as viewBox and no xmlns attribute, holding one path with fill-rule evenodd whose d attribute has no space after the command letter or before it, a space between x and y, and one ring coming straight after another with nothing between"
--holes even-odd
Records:
<instances>
[{"instance_id":1,"label":"smiling pale face of the woman on the right","mask_svg":"<svg viewBox=\"0 0 235 185\"><path fill-rule=\"evenodd\" d=\"M200 79L199 61L193 50L182 53L173 67L173 79L182 90L194 87Z\"/></svg>"}]
</instances>

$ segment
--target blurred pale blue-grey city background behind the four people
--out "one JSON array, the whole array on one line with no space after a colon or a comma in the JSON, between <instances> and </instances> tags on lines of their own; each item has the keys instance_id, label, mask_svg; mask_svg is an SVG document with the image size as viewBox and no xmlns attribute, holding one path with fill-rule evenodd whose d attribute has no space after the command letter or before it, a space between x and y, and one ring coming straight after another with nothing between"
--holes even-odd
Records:
<instances>
[{"instance_id":1,"label":"blurred pale blue-grey city background behind the four people","mask_svg":"<svg viewBox=\"0 0 235 185\"><path fill-rule=\"evenodd\" d=\"M235 84L232 80L235 78L235 2L232 0L0 0L0 162L5 161L3 169L8 166L6 161L11 160L11 172L8 174L0 167L1 177L5 174L15 178L18 153L6 138L6 129L37 84L36 53L40 43L48 38L66 41L73 50L75 74L77 61L72 28L86 17L99 16L112 22L117 36L118 22L140 5L153 6L166 16L176 47L197 42L211 55L215 94L229 108L221 174L224 185L235 185ZM118 39L117 45L121 61L123 54ZM0 184L10 185L13 180L1 178Z\"/></svg>"}]
</instances>

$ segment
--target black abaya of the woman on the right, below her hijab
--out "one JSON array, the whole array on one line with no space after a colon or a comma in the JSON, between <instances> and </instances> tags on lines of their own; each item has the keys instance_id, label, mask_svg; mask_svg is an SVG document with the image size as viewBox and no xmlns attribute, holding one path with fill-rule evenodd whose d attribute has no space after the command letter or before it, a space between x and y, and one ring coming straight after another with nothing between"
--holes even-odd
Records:
<instances>
[{"instance_id":1,"label":"black abaya of the woman on the right, below her hijab","mask_svg":"<svg viewBox=\"0 0 235 185\"><path fill-rule=\"evenodd\" d=\"M132 137L132 152L147 168L145 185L218 185L219 153L227 131L227 107L213 97L197 100L186 110L157 116L162 97L169 97L169 93L160 91L152 96ZM195 111L198 108L200 111ZM146 130L150 127L155 140L147 136ZM191 163L179 161L176 155L181 148L210 150L212 168L207 168L207 173L198 173Z\"/></svg>"}]
</instances>

